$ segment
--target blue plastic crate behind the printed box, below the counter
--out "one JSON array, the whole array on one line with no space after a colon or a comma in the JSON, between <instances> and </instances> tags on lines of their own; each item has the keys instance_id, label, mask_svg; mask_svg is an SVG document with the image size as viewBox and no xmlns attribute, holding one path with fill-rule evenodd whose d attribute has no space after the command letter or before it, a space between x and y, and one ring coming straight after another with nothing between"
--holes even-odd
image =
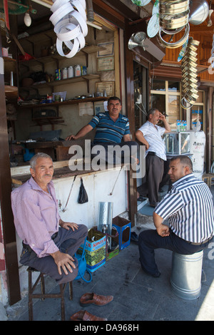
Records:
<instances>
[{"instance_id":1,"label":"blue plastic crate behind the printed box, below the counter","mask_svg":"<svg viewBox=\"0 0 214 335\"><path fill-rule=\"evenodd\" d=\"M130 244L131 237L131 222L124 219L123 217L114 217L112 220L112 227L116 227L119 234L118 242L119 249L122 250Z\"/></svg>"}]
</instances>

